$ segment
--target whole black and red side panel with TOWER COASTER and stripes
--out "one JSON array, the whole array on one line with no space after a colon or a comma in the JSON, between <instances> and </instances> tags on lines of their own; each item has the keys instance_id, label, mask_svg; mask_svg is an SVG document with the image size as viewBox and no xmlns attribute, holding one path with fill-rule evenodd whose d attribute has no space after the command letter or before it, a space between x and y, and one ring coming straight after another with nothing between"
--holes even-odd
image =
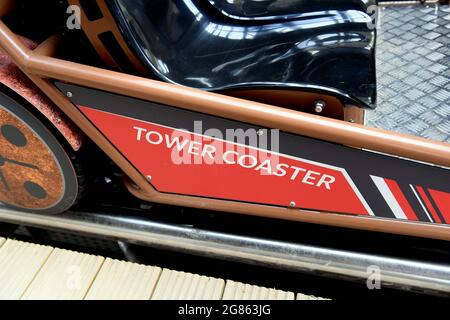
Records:
<instances>
[{"instance_id":1,"label":"whole black and red side panel with TOWER COASTER and stripes","mask_svg":"<svg viewBox=\"0 0 450 320\"><path fill-rule=\"evenodd\" d=\"M248 119L56 85L159 192L420 223L450 218L447 168Z\"/></svg>"}]
</instances>

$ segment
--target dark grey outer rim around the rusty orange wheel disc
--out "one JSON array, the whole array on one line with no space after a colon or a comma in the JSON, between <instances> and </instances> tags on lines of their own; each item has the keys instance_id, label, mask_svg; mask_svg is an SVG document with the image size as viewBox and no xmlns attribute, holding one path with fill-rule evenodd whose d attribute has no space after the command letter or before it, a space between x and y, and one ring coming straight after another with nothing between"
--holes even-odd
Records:
<instances>
[{"instance_id":1,"label":"dark grey outer rim around the rusty orange wheel disc","mask_svg":"<svg viewBox=\"0 0 450 320\"><path fill-rule=\"evenodd\" d=\"M62 177L61 185L63 186L63 188L62 191L58 193L58 195L60 195L58 199L52 202L51 205L47 207L27 208L25 206L17 206L10 203L4 204L7 207L16 210L41 214L57 214L64 212L72 207L84 193L82 192L82 186L84 185L84 177L81 173L82 170L76 163L76 154L74 152L67 152L62 143L58 141L58 138L55 136L55 134L52 133L52 129L54 128L47 127L49 126L49 123L44 124L43 121L39 120L38 117L36 117L32 112L29 111L29 109L27 109L27 107L30 108L29 105L26 105L24 101L21 101L17 97L12 97L11 94L7 95L3 92L0 92L0 109L4 109L5 111L18 118L20 121L22 121L48 148L49 153L53 155L53 159L60 170L58 174L60 174L60 176ZM0 126L2 126L2 124L0 124ZM7 143L5 142L5 139L3 139L2 141L2 143ZM0 186L0 193L1 192L8 191L6 188L1 189Z\"/></svg>"}]
</instances>

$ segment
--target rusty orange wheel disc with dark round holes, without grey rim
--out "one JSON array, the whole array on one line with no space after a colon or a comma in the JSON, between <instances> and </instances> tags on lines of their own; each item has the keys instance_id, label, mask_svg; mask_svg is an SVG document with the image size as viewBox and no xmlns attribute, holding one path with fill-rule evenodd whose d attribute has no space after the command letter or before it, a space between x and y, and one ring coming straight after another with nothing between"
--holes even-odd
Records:
<instances>
[{"instance_id":1,"label":"rusty orange wheel disc with dark round holes, without grey rim","mask_svg":"<svg viewBox=\"0 0 450 320\"><path fill-rule=\"evenodd\" d=\"M0 106L0 202L46 209L58 203L63 193L63 174L48 145Z\"/></svg>"}]
</instances>

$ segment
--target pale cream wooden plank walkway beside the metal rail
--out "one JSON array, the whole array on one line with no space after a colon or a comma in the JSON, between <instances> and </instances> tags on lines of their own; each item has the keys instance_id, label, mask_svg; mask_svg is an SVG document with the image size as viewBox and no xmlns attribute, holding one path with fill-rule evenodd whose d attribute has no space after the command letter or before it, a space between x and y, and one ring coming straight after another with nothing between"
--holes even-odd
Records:
<instances>
[{"instance_id":1,"label":"pale cream wooden plank walkway beside the metal rail","mask_svg":"<svg viewBox=\"0 0 450 320\"><path fill-rule=\"evenodd\" d=\"M320 298L0 238L0 299Z\"/></svg>"}]
</instances>

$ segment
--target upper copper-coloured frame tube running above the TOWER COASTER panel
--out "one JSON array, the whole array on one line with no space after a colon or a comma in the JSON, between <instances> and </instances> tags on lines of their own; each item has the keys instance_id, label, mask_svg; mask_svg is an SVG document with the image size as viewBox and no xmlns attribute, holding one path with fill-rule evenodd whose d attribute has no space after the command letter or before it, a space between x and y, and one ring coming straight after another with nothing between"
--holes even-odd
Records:
<instances>
[{"instance_id":1,"label":"upper copper-coloured frame tube running above the TOWER COASTER panel","mask_svg":"<svg viewBox=\"0 0 450 320\"><path fill-rule=\"evenodd\" d=\"M450 145L35 54L0 22L0 46L26 73L450 167ZM186 103L189 101L189 103Z\"/></svg>"}]
</instances>

